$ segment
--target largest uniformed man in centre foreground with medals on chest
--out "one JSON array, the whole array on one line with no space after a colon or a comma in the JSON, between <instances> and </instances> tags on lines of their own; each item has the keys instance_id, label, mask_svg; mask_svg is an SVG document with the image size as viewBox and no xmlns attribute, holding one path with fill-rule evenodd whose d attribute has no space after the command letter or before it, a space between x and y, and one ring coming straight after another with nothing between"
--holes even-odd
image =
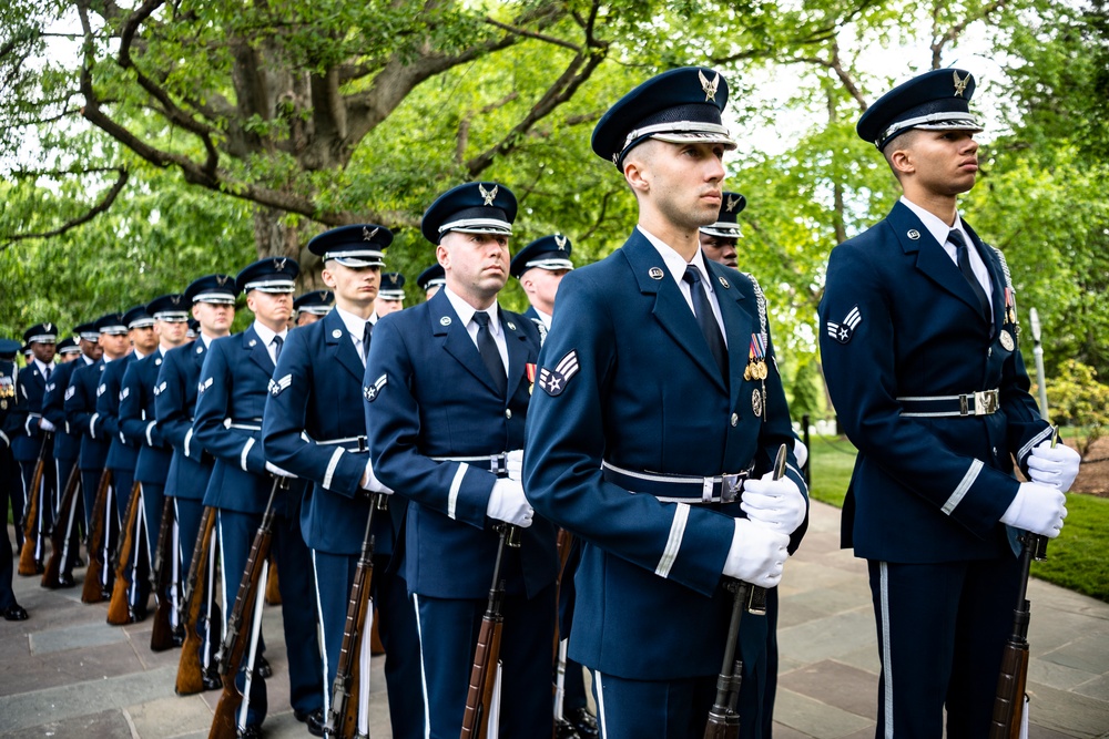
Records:
<instances>
[{"instance_id":1,"label":"largest uniformed man in centre foreground with medals on chest","mask_svg":"<svg viewBox=\"0 0 1109 739\"><path fill-rule=\"evenodd\" d=\"M765 301L698 242L735 148L726 101L718 72L678 69L598 123L593 152L624 176L639 225L562 280L528 418L528 497L582 542L570 657L593 673L608 739L703 736L733 601L724 579L776 585L804 531L792 454L770 480L793 433ZM771 732L775 591L767 601L740 630L743 737Z\"/></svg>"}]
</instances>

